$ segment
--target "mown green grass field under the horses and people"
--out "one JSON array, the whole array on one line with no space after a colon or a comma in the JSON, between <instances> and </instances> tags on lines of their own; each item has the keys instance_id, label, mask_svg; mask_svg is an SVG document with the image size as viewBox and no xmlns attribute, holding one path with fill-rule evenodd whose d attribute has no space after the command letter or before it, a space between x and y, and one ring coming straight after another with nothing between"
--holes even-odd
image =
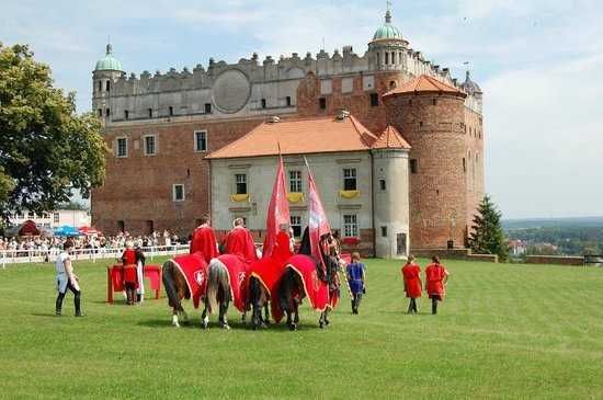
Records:
<instances>
[{"instance_id":1,"label":"mown green grass field under the horses and people","mask_svg":"<svg viewBox=\"0 0 603 400\"><path fill-rule=\"evenodd\" d=\"M105 263L77 262L84 318L54 316L54 266L0 271L2 398L603 398L603 268L445 262L448 297L407 316L399 264L371 260L360 316L331 327L170 325L166 299L104 302ZM421 263L424 266L424 262ZM121 295L118 296L121 299ZM215 327L215 325L214 325Z\"/></svg>"}]
</instances>

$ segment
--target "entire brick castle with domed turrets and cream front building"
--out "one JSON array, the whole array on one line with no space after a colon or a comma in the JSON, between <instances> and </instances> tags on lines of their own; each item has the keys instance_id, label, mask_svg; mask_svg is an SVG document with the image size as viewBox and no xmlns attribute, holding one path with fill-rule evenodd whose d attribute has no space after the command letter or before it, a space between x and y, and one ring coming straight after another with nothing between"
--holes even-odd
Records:
<instances>
[{"instance_id":1,"label":"entire brick castle with domed turrets and cream front building","mask_svg":"<svg viewBox=\"0 0 603 400\"><path fill-rule=\"evenodd\" d=\"M112 151L92 222L107 233L189 235L211 214L261 235L280 138L292 225L306 222L306 156L331 225L366 253L464 247L483 196L479 85L412 49L389 11L363 56L254 54L137 78L107 45L92 84Z\"/></svg>"}]
</instances>

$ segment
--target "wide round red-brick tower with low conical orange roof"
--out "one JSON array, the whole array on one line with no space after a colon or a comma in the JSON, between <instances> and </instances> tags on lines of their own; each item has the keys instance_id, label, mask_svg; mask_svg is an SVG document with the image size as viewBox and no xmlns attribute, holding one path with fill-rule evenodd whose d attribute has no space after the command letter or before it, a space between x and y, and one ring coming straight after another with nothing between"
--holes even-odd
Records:
<instances>
[{"instance_id":1,"label":"wide round red-brick tower with low conical orange roof","mask_svg":"<svg viewBox=\"0 0 603 400\"><path fill-rule=\"evenodd\" d=\"M467 232L466 93L420 76L386 93L388 122L409 155L411 249L464 247Z\"/></svg>"}]
</instances>

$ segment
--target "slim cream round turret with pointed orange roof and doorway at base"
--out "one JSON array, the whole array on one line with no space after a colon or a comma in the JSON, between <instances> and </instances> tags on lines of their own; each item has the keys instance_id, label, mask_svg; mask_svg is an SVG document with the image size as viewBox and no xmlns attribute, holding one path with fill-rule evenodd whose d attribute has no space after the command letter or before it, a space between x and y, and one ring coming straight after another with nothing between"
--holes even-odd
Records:
<instances>
[{"instance_id":1,"label":"slim cream round turret with pointed orange roof and doorway at base","mask_svg":"<svg viewBox=\"0 0 603 400\"><path fill-rule=\"evenodd\" d=\"M405 259L409 250L409 144L388 126L372 146L375 255Z\"/></svg>"}]
</instances>

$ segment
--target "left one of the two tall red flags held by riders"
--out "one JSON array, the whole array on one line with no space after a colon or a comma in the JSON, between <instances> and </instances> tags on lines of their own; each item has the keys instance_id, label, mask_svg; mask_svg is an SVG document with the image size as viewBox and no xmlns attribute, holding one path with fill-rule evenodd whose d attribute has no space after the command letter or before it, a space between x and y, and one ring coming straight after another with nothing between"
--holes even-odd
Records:
<instances>
[{"instance_id":1,"label":"left one of the two tall red flags held by riders","mask_svg":"<svg viewBox=\"0 0 603 400\"><path fill-rule=\"evenodd\" d=\"M280 226L283 224L289 224L289 203L285 190L285 168L283 167L283 158L281 157L278 160L278 170L276 171L276 181L274 181L272 197L268 206L266 237L264 239L262 259L271 256L274 252L276 236L278 235Z\"/></svg>"}]
</instances>

